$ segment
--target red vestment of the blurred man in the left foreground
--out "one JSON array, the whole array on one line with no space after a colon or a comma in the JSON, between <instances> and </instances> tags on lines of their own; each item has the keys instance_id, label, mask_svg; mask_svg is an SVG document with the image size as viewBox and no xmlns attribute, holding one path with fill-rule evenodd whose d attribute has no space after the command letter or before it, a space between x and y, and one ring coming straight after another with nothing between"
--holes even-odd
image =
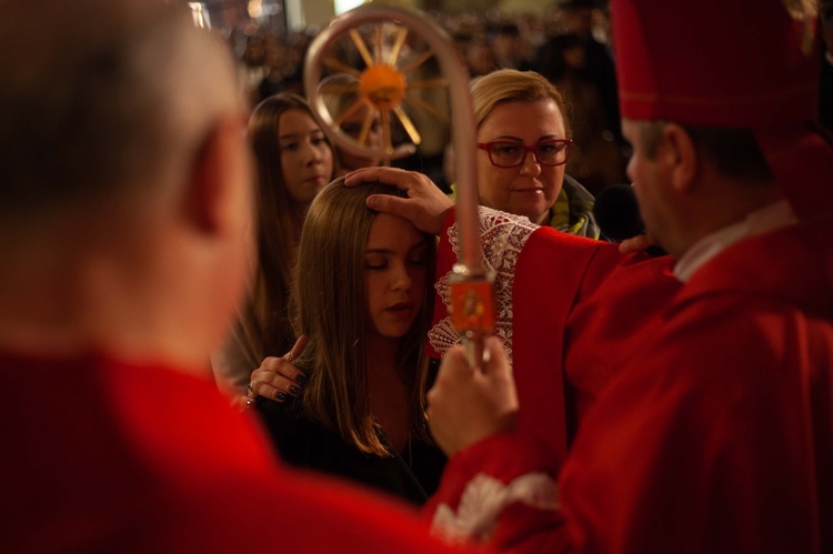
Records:
<instances>
[{"instance_id":1,"label":"red vestment of the blurred man in the left foreground","mask_svg":"<svg viewBox=\"0 0 833 554\"><path fill-rule=\"evenodd\" d=\"M208 376L4 354L0 383L2 552L444 550L405 507L277 464Z\"/></svg>"}]
</instances>

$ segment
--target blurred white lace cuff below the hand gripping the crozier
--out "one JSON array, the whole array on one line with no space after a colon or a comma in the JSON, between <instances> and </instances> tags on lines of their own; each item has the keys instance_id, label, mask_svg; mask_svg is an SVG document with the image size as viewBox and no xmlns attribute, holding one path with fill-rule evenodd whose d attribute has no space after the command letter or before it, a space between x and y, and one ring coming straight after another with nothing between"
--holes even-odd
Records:
<instances>
[{"instance_id":1,"label":"blurred white lace cuff below the hand gripping the crozier","mask_svg":"<svg viewBox=\"0 0 833 554\"><path fill-rule=\"evenodd\" d=\"M528 473L508 485L478 473L465 486L454 512L440 504L431 522L431 532L452 542L485 541L498 526L503 510L522 502L539 510L559 508L559 485L545 473Z\"/></svg>"}]
</instances>

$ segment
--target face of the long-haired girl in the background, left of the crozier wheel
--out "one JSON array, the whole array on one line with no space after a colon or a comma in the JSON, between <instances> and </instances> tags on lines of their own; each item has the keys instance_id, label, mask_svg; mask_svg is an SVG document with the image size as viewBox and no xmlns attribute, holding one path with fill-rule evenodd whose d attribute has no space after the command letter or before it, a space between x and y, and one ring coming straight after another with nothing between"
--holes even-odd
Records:
<instances>
[{"instance_id":1,"label":"face of the long-haired girl in the background, left of the crozier wheel","mask_svg":"<svg viewBox=\"0 0 833 554\"><path fill-rule=\"evenodd\" d=\"M278 121L278 143L283 181L289 195L299 204L309 204L330 181L332 150L324 132L302 110L287 110Z\"/></svg>"}]
</instances>

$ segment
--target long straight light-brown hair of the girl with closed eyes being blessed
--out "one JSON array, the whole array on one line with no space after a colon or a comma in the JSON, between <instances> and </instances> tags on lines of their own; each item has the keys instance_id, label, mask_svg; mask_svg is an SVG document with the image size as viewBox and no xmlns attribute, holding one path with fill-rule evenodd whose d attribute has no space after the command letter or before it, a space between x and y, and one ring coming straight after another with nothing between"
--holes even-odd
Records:
<instances>
[{"instance_id":1,"label":"long straight light-brown hair of the girl with closed eyes being blessed","mask_svg":"<svg viewBox=\"0 0 833 554\"><path fill-rule=\"evenodd\" d=\"M391 454L391 447L370 413L367 369L372 360L364 345L364 249L377 212L367 208L365 200L370 194L398 193L380 183L348 188L343 179L337 179L328 184L304 221L291 296L295 332L310 338L295 361L309 376L302 396L305 415L337 431L348 444L377 455ZM424 239L428 266L422 310L400 341L397 367L410 389L411 431L428 440L424 345L436 254L434 238L425 234Z\"/></svg>"}]
</instances>

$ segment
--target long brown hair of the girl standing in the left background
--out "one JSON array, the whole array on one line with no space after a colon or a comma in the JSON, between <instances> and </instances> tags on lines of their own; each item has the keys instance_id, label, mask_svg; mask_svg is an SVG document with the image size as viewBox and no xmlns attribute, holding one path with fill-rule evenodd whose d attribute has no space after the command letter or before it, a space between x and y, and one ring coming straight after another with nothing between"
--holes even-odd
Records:
<instances>
[{"instance_id":1,"label":"long brown hair of the girl standing in the left background","mask_svg":"<svg viewBox=\"0 0 833 554\"><path fill-rule=\"evenodd\" d=\"M263 100L249 119L258 173L258 266L234 329L234 357L252 369L267 356L285 354L295 340L287 305L301 230L289 210L294 202L284 185L278 140L280 118L289 110L301 110L314 120L307 101L292 93Z\"/></svg>"}]
</instances>

